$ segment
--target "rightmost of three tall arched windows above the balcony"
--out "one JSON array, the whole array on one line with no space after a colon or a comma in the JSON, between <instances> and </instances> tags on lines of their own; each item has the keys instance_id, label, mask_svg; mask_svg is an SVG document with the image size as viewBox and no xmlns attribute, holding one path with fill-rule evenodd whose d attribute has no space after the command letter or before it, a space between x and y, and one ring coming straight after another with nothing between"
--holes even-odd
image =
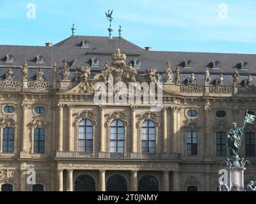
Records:
<instances>
[{"instance_id":1,"label":"rightmost of three tall arched windows above the balcony","mask_svg":"<svg viewBox=\"0 0 256 204\"><path fill-rule=\"evenodd\" d=\"M152 120L145 120L141 128L142 153L156 153L156 125Z\"/></svg>"}]
</instances>

